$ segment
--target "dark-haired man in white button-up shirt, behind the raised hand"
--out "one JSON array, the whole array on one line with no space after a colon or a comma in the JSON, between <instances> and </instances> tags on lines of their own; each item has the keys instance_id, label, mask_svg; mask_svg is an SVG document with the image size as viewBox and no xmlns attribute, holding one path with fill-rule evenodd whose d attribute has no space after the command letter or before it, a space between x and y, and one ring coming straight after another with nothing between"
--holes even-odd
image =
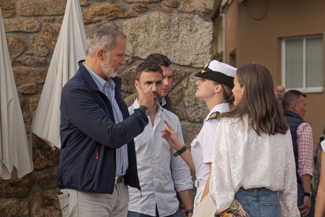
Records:
<instances>
[{"instance_id":1,"label":"dark-haired man in white button-up shirt, behind the raised hand","mask_svg":"<svg viewBox=\"0 0 325 217\"><path fill-rule=\"evenodd\" d=\"M135 86L144 89L152 85L154 105L149 108L148 125L143 133L135 138L142 193L129 189L128 217L181 217L176 192L179 193L186 210L193 208L193 183L189 168L180 156L175 154L176 150L161 138L160 131L166 128L164 120L167 120L183 142L179 119L172 112L161 108L158 103L161 98L162 82L163 72L158 64L145 61L138 66ZM132 114L140 104L141 99L138 98L128 108L129 113ZM189 212L188 216L191 215Z\"/></svg>"}]
</instances>

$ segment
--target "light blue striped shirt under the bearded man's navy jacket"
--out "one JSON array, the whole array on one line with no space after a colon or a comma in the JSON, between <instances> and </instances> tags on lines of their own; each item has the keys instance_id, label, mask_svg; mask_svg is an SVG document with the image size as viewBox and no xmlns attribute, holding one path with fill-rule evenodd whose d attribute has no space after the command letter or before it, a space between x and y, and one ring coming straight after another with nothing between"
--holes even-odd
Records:
<instances>
[{"instance_id":1,"label":"light blue striped shirt under the bearded man's navy jacket","mask_svg":"<svg viewBox=\"0 0 325 217\"><path fill-rule=\"evenodd\" d=\"M104 80L98 74L94 73L91 69L89 69L84 63L82 64L88 70L90 76L95 81L98 88L103 92L103 94L106 95L108 100L111 102L115 123L121 122L123 120L123 115L114 98L114 81L111 78L106 78ZM122 147L116 149L116 176L125 175L127 167L127 144L124 144Z\"/></svg>"}]
</instances>

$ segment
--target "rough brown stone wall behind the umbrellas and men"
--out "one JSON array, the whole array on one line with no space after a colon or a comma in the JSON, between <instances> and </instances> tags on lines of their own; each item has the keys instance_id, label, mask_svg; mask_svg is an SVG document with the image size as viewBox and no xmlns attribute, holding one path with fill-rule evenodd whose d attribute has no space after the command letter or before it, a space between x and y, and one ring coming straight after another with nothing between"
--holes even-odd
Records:
<instances>
[{"instance_id":1,"label":"rough brown stone wall behind the umbrellas and men","mask_svg":"<svg viewBox=\"0 0 325 217\"><path fill-rule=\"evenodd\" d=\"M173 63L170 97L179 108L186 144L208 110L194 98L192 75L212 56L213 0L83 0L86 32L96 22L113 22L127 35L127 65L121 69L122 94L135 91L136 66L151 53ZM20 105L30 136L47 69L67 0L0 0ZM60 216L56 199L59 150L32 136L35 170L22 179L0 181L0 216Z\"/></svg>"}]
</instances>

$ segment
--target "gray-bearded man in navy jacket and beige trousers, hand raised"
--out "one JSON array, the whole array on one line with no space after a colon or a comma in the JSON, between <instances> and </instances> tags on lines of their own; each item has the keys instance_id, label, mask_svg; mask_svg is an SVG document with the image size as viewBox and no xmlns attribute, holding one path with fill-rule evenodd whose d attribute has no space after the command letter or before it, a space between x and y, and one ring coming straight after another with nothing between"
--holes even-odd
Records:
<instances>
[{"instance_id":1,"label":"gray-bearded man in navy jacket and beige trousers, hand raised","mask_svg":"<svg viewBox=\"0 0 325 217\"><path fill-rule=\"evenodd\" d=\"M63 216L126 216L128 187L141 190L133 139L148 123L152 85L138 90L141 106L130 116L117 77L125 51L118 27L95 25L86 59L62 89L57 186Z\"/></svg>"}]
</instances>

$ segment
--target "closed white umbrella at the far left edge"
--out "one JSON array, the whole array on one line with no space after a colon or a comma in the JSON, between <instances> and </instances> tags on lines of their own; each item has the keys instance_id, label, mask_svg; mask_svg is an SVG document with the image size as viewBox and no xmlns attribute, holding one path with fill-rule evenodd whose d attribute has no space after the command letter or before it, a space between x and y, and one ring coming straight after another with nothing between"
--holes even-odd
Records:
<instances>
[{"instance_id":1,"label":"closed white umbrella at the far left edge","mask_svg":"<svg viewBox=\"0 0 325 217\"><path fill-rule=\"evenodd\" d=\"M34 166L12 71L0 10L0 177L22 178Z\"/></svg>"}]
</instances>

